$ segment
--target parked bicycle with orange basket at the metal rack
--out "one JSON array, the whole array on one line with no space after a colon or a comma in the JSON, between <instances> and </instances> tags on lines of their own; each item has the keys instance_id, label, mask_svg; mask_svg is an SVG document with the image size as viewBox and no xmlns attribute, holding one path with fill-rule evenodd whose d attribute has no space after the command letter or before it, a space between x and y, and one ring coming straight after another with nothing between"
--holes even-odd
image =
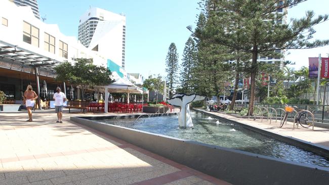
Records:
<instances>
[{"instance_id":1,"label":"parked bicycle with orange basket at the metal rack","mask_svg":"<svg viewBox=\"0 0 329 185\"><path fill-rule=\"evenodd\" d=\"M294 117L294 128L295 128L295 123L297 123L297 128L298 128L298 124L300 124L302 127L304 128L309 128L310 126L313 126L313 129L314 129L314 116L313 114L308 111L308 110L300 110L299 112L297 112L296 109L298 109L298 107L294 106L294 107L290 107L288 105L285 105L285 115L282 119L282 116L281 116L281 124L280 124L280 128L282 128L284 122L286 122L286 119L288 117L288 114L289 113L293 113L294 111L296 112L296 115ZM313 121L311 121L311 119Z\"/></svg>"}]
</instances>

